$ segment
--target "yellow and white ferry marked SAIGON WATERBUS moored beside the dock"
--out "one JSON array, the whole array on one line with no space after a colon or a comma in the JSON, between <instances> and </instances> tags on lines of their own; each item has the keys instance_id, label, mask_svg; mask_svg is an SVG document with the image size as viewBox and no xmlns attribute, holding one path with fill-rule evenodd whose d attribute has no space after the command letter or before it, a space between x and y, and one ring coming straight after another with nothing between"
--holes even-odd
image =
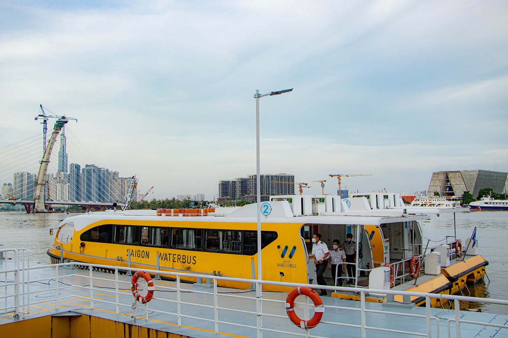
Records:
<instances>
[{"instance_id":1,"label":"yellow and white ferry marked SAIGON WATERBUS moored beside the dock","mask_svg":"<svg viewBox=\"0 0 508 338\"><path fill-rule=\"evenodd\" d=\"M414 281L409 273L409 260L412 257L423 260L425 250L418 221L429 219L429 216L409 213L396 205L397 196L390 198L393 207L389 203L379 210L372 209L365 196L347 201L331 195L270 197L270 201L262 204L265 206L261 238L263 280L315 284L315 267L308 258L313 234L322 234L321 240L331 247L332 240L343 242L346 234L351 233L357 246L354 263L357 278L350 276L355 281L351 286L389 289L390 273L392 287L400 288ZM172 278L171 271L191 271L203 274L203 279L213 274L256 279L256 213L257 204L211 210L110 210L80 214L61 222L48 255L54 263L63 259L74 261L76 265L86 262L137 269L158 267L167 271L162 274L163 278ZM447 247L452 249L450 245ZM439 270L432 278L425 278L423 269L418 271L422 275L420 284L437 277L440 280L432 282L428 290L417 284L422 288L419 290L455 293L458 291L453 283L462 281L464 274L464 281L483 278L487 262L480 255L472 257L475 257L474 262L469 263L468 258L464 264L444 267L442 274ZM325 277L331 278L330 271L326 271ZM202 283L195 278L189 282ZM241 282L221 283L219 286L250 287ZM286 289L265 288L288 291ZM352 294L336 293L334 296L352 298Z\"/></svg>"}]
</instances>

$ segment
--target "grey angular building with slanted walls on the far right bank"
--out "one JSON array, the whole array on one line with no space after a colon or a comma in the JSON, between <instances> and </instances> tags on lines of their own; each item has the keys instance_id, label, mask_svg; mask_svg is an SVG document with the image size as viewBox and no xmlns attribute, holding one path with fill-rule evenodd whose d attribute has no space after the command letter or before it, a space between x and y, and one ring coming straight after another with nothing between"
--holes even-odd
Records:
<instances>
[{"instance_id":1,"label":"grey angular building with slanted walls on the far right bank","mask_svg":"<svg viewBox=\"0 0 508 338\"><path fill-rule=\"evenodd\" d=\"M427 196L438 192L441 196L460 197L465 191L469 191L476 197L484 188L491 188L497 194L506 193L508 173L490 170L433 172Z\"/></svg>"}]
</instances>

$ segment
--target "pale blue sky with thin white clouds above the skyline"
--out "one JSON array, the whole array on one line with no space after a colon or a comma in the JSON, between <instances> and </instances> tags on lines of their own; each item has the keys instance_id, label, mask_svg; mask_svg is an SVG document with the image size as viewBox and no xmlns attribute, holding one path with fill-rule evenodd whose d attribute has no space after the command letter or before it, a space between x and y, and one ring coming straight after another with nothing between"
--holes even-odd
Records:
<instances>
[{"instance_id":1,"label":"pale blue sky with thin white clouds above the skyline","mask_svg":"<svg viewBox=\"0 0 508 338\"><path fill-rule=\"evenodd\" d=\"M0 148L42 135L42 104L149 198L212 199L256 173L256 89L294 88L260 99L261 173L307 194L321 179L336 194L329 174L412 193L434 171L508 171L506 1L4 0L0 15Z\"/></svg>"}]
</instances>

